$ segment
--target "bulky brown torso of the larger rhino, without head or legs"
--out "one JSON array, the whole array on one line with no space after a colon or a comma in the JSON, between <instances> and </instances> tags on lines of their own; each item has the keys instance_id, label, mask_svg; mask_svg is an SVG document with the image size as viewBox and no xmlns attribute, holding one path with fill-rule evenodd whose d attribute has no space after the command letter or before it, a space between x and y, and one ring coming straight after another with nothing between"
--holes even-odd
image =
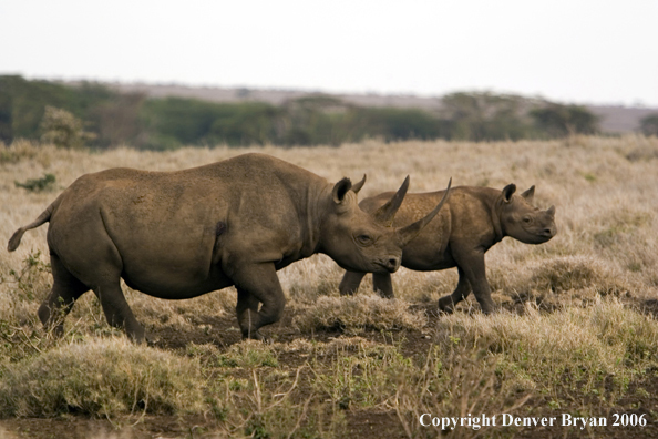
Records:
<instances>
[{"instance_id":1,"label":"bulky brown torso of the larger rhino, without head or legs","mask_svg":"<svg viewBox=\"0 0 658 439\"><path fill-rule=\"evenodd\" d=\"M300 204L309 186L323 183L260 154L177 172L107 170L65 191L49 244L62 254L85 252L72 236L106 235L128 285L184 298L184 290L230 285L223 272L228 259L278 261L295 253L304 236Z\"/></svg>"}]
</instances>

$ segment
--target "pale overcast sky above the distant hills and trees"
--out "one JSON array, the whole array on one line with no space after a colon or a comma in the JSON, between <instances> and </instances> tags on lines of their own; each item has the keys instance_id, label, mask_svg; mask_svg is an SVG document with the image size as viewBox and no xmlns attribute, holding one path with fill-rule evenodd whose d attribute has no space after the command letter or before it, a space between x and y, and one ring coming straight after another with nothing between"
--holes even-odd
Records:
<instances>
[{"instance_id":1,"label":"pale overcast sky above the distant hills and trees","mask_svg":"<svg viewBox=\"0 0 658 439\"><path fill-rule=\"evenodd\" d=\"M658 0L0 1L0 74L658 106Z\"/></svg>"}]
</instances>

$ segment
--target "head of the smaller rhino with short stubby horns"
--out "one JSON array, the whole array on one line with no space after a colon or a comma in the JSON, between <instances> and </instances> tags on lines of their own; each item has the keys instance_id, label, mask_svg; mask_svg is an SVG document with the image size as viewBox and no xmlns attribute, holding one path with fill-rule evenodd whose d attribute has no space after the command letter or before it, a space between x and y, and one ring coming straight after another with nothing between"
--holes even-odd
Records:
<instances>
[{"instance_id":1,"label":"head of the smaller rhino with short stubby horns","mask_svg":"<svg viewBox=\"0 0 658 439\"><path fill-rule=\"evenodd\" d=\"M555 236L555 206L546 211L534 207L535 186L521 195L514 195L514 184L502 191L500 221L505 235L525 244L542 244Z\"/></svg>"}]
</instances>

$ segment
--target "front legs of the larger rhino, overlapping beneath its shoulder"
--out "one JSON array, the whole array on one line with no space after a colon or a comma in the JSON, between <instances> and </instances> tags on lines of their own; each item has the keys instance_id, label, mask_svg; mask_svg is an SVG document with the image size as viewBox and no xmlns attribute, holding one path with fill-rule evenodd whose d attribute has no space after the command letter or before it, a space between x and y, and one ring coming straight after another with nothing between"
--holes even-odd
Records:
<instances>
[{"instance_id":1,"label":"front legs of the larger rhino, overlapping beneath its shoulder","mask_svg":"<svg viewBox=\"0 0 658 439\"><path fill-rule=\"evenodd\" d=\"M243 338L267 341L258 329L279 321L286 306L286 296L274 264L251 264L240 267L235 270L233 280L238 292L243 292L241 303L236 307L236 310L241 310L238 323ZM238 302L240 302L239 296ZM263 306L256 312L259 302Z\"/></svg>"}]
</instances>

